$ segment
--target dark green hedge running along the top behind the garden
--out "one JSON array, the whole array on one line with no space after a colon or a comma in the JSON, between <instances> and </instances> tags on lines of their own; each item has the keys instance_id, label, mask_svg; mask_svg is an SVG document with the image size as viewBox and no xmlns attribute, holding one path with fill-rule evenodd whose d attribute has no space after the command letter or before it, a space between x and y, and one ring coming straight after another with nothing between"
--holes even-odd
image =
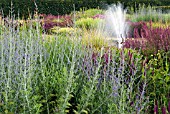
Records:
<instances>
[{"instance_id":1,"label":"dark green hedge running along the top behind the garden","mask_svg":"<svg viewBox=\"0 0 170 114\"><path fill-rule=\"evenodd\" d=\"M151 5L170 5L169 0L164 0L161 2L160 0L95 0L95 1L84 1L84 0L1 0L0 8L3 10L3 14L6 16L9 14L11 10L11 3L13 4L13 13L20 17L27 18L29 14L33 14L35 10L35 3L38 6L39 13L43 14L53 14L53 15L62 15L68 14L74 10L73 4L75 4L75 10L79 10L80 8L106 8L106 4L113 4L117 2L121 2L125 7L138 7L138 4L151 4ZM18 13L19 12L19 13Z\"/></svg>"}]
</instances>

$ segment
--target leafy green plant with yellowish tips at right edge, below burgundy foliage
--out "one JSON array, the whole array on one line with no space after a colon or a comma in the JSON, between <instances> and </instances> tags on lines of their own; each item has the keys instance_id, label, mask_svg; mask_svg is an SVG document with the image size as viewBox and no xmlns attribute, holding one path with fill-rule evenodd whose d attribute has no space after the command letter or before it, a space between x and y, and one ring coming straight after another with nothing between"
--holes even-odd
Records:
<instances>
[{"instance_id":1,"label":"leafy green plant with yellowish tips at right edge, below burgundy foliage","mask_svg":"<svg viewBox=\"0 0 170 114\"><path fill-rule=\"evenodd\" d=\"M151 102L156 102L150 105L155 107L154 111L157 113L161 113L161 107L168 107L169 102L170 59L168 56L168 53L159 51L152 55L152 59L148 62L150 77L146 93L150 96Z\"/></svg>"}]
</instances>

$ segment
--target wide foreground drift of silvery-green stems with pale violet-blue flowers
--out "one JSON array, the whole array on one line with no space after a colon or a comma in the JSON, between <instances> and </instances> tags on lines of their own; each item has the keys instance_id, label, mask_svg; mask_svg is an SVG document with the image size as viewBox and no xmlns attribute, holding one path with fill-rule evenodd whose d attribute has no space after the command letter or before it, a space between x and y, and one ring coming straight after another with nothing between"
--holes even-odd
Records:
<instances>
[{"instance_id":1,"label":"wide foreground drift of silvery-green stems with pale violet-blue flowers","mask_svg":"<svg viewBox=\"0 0 170 114\"><path fill-rule=\"evenodd\" d=\"M142 56L116 48L94 52L74 35L44 42L38 23L35 27L1 32L0 112L143 112Z\"/></svg>"}]
</instances>

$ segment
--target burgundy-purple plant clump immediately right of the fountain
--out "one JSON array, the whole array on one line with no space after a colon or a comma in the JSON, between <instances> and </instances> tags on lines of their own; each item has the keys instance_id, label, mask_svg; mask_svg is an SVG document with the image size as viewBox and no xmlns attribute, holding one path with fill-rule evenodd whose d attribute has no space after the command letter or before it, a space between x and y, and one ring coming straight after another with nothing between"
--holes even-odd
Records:
<instances>
[{"instance_id":1,"label":"burgundy-purple plant clump immediately right of the fountain","mask_svg":"<svg viewBox=\"0 0 170 114\"><path fill-rule=\"evenodd\" d=\"M167 28L153 28L146 22L130 23L131 30L124 47L141 49L144 55L155 54L158 50L167 52L170 49L170 26Z\"/></svg>"}]
</instances>

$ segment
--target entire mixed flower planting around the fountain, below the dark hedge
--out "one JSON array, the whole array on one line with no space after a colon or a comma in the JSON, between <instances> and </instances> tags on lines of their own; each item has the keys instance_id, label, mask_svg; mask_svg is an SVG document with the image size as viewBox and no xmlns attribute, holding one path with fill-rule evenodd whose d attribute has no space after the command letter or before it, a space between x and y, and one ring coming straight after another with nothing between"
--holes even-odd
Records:
<instances>
[{"instance_id":1,"label":"entire mixed flower planting around the fountain, below the dark hedge","mask_svg":"<svg viewBox=\"0 0 170 114\"><path fill-rule=\"evenodd\" d=\"M0 113L170 113L169 19L129 14L117 48L99 32L103 12L43 14L18 26L2 19Z\"/></svg>"}]
</instances>

